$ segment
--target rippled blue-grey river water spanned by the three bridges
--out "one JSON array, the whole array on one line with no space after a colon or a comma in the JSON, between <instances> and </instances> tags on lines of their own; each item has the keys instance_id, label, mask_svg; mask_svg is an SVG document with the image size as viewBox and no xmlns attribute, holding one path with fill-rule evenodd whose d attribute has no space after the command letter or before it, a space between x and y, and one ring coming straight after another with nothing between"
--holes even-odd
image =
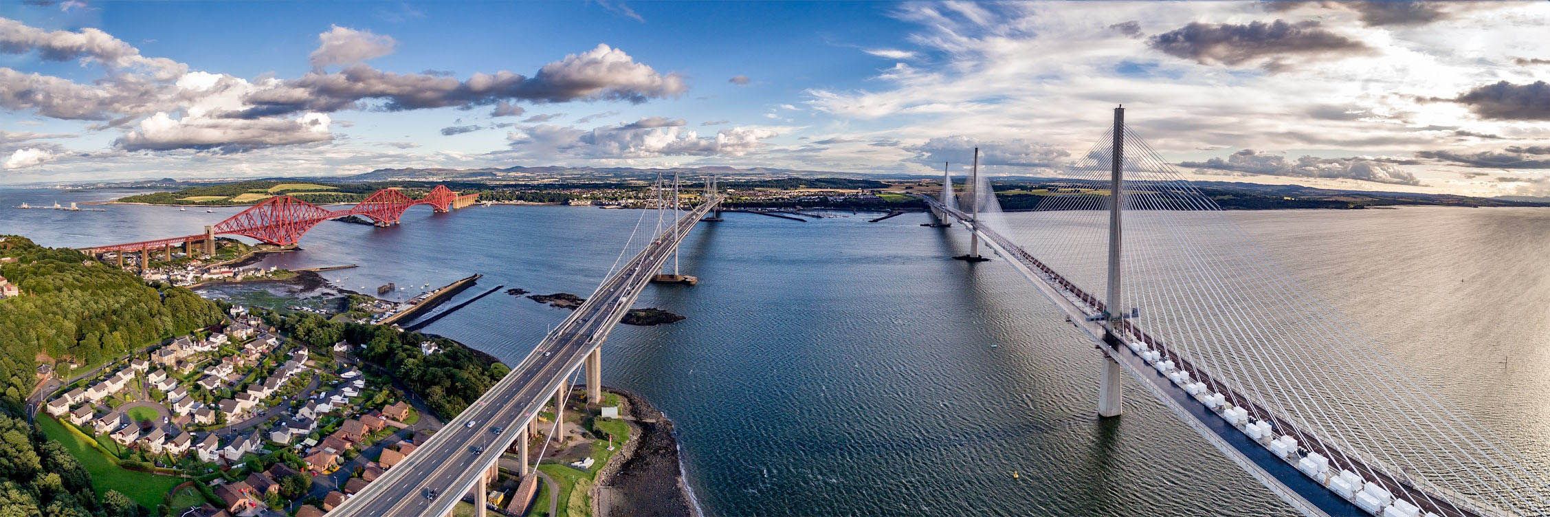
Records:
<instances>
[{"instance_id":1,"label":"rippled blue-grey river water spanned by the three bridges","mask_svg":"<svg viewBox=\"0 0 1550 517\"><path fill-rule=\"evenodd\" d=\"M0 189L0 233L88 245L197 233L236 208L12 210L122 191ZM484 273L589 293L640 211L414 208L395 228L326 222L264 265L360 264L346 289L420 287ZM969 265L963 231L924 214L781 220L727 214L682 248L694 287L637 306L688 318L620 326L604 383L677 422L684 469L716 515L1291 515L1257 481L1127 379L1125 415L1094 416L1091 343L1003 261ZM1009 214L1015 219L1015 214ZM1300 284L1414 360L1443 404L1550 461L1550 210L1401 208L1229 213ZM654 224L648 217L646 230ZM1448 279L1448 281L1437 281ZM1457 283L1454 279L1468 279ZM494 293L436 321L515 362L566 317ZM1017 472L1017 477L1012 474Z\"/></svg>"}]
</instances>

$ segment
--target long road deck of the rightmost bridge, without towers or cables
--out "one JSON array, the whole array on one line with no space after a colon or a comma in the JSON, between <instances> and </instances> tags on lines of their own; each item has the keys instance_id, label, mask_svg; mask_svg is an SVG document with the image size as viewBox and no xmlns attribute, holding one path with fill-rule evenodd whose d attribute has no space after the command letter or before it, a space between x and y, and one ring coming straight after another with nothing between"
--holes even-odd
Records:
<instances>
[{"instance_id":1,"label":"long road deck of the rightmost bridge, without towers or cables","mask_svg":"<svg viewBox=\"0 0 1550 517\"><path fill-rule=\"evenodd\" d=\"M1051 267L1045 265L1031 253L1018 247L1015 242L1011 242L1009 239L1003 238L1001 234L992 230L975 225L972 222L972 217L969 217L959 210L947 208L939 200L932 197L922 196L922 199L933 210L946 213L964 222L973 231L978 231L986 241L992 244L992 248L1000 250L1004 256L1018 261L1021 265L1029 269L1035 275L1031 276L1032 279L1040 283L1048 283L1049 293L1056 293L1057 297L1065 297L1066 301L1070 301L1070 306L1077 311L1077 314L1073 315L1074 317L1073 321L1085 321L1087 317L1100 315L1105 312L1105 306L1097 297L1087 293L1074 283L1068 281L1065 276L1054 272ZM1269 411L1254 399L1243 396L1242 393L1234 390L1228 382L1223 382L1223 379L1212 376L1211 371L1206 370L1204 366L1184 359L1176 351L1170 349L1166 343L1145 334L1141 328L1132 324L1130 321L1125 321L1119 331L1125 334L1122 335L1125 342L1147 343L1152 349L1156 349L1162 354L1159 360L1164 359L1173 360L1178 370L1190 373L1190 376L1195 380L1206 383L1209 391L1221 393L1232 405L1243 407L1245 410L1248 410L1251 421L1252 419L1268 421L1274 425L1274 435L1290 435L1293 438L1297 438L1299 447L1302 450L1318 452L1325 458L1328 458L1330 472L1339 472L1341 469L1356 472L1367 481L1381 484L1395 497L1415 503L1417 506L1421 508L1423 512L1434 512L1437 515L1465 515L1465 517L1499 514L1496 511L1469 505L1468 501L1460 501L1459 497L1442 495L1440 489L1434 491L1423 489L1420 483L1407 480L1401 474L1395 474L1397 472L1395 469L1380 466L1372 461L1364 461L1361 458L1356 458L1355 453L1331 446L1328 441L1321 439L1318 435L1305 429L1299 429L1299 425L1294 425L1291 421L1282 418L1276 411ZM1088 329L1088 332L1093 334L1094 338L1105 342L1107 346L1100 346L1104 352L1113 357L1114 360L1121 362L1121 365L1124 365L1125 370L1130 371L1138 380L1145 382L1149 391L1152 391L1159 399L1167 397L1162 402L1176 408L1178 413L1183 413L1181 416L1194 419L1194 422L1190 422L1192 427L1195 427L1201 433L1207 432L1212 433L1214 436L1206 436L1206 438L1211 439L1215 446L1218 446L1218 449L1221 449L1223 446L1231 449L1231 450L1224 449L1223 452L1235 455L1234 460L1238 461L1240 466L1243 466L1245 469L1259 470L1251 474L1256 474L1256 477L1259 477L1260 481L1263 481L1266 486L1269 486L1283 498L1293 494L1294 497L1299 498L1296 501L1288 500L1288 503L1293 503L1294 506L1299 506L1304 511L1316 509L1327 515L1364 514L1364 511L1356 505L1353 505L1352 501L1339 497L1338 494L1325 488L1321 481L1316 481L1304 475L1300 470L1297 470L1293 461L1300 460L1305 455L1304 452L1291 455L1291 460L1282 460L1276 456L1262 442L1249 438L1248 435L1240 432L1238 427L1223 419L1218 411L1195 401L1194 396L1190 396L1187 391L1175 385L1162 373L1152 368L1152 363L1142 359L1138 352L1124 346L1124 343L1121 343L1119 338L1114 338L1113 335L1104 335L1102 329L1096 331ZM1271 483L1279 486L1271 486Z\"/></svg>"}]
</instances>

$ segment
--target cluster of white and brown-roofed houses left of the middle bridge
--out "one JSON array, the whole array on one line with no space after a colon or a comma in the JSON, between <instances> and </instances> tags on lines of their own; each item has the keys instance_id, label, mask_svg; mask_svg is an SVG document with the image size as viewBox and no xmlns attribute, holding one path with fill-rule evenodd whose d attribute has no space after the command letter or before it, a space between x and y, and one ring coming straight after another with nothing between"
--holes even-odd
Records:
<instances>
[{"instance_id":1,"label":"cluster of white and brown-roofed houses left of the middle bridge","mask_svg":"<svg viewBox=\"0 0 1550 517\"><path fill-rule=\"evenodd\" d=\"M116 444L112 452L157 469L246 472L215 478L211 491L222 506L208 508L208 515L285 514L270 508L282 480L333 474L341 461L418 419L409 404L384 402L391 394L355 365L313 357L240 306L220 332L178 337L122 363L62 387L43 410L73 433ZM397 447L383 455L386 466L372 463L367 470L391 467L394 455L412 450L409 442ZM276 452L290 452L293 461L248 467ZM353 492L360 483L341 489ZM324 506L330 495L324 494Z\"/></svg>"}]
</instances>

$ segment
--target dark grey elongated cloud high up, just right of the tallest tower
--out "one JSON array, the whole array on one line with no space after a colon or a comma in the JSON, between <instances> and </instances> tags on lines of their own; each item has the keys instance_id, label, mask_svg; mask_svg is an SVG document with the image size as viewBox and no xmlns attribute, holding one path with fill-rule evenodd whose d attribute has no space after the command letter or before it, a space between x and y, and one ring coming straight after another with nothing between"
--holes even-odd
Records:
<instances>
[{"instance_id":1,"label":"dark grey elongated cloud high up, just right of the tallest tower","mask_svg":"<svg viewBox=\"0 0 1550 517\"><path fill-rule=\"evenodd\" d=\"M1150 47L1203 65L1242 65L1265 61L1265 68L1285 68L1288 57L1352 56L1372 51L1362 42L1331 33L1319 22L1201 23L1152 36Z\"/></svg>"}]
</instances>

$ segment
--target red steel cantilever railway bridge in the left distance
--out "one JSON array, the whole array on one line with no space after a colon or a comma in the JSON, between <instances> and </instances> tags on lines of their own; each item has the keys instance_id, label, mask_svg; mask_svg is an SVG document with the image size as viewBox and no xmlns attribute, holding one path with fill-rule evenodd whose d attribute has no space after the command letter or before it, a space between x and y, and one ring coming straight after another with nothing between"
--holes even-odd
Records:
<instances>
[{"instance_id":1,"label":"red steel cantilever railway bridge in the left distance","mask_svg":"<svg viewBox=\"0 0 1550 517\"><path fill-rule=\"evenodd\" d=\"M384 188L372 193L372 196L367 196L360 203L355 203L355 206L327 210L291 196L274 196L237 213L236 216L226 217L226 220L205 227L203 234L96 245L84 250L91 255L107 252L119 252L121 255L124 252L141 252L143 256L149 255L150 250L164 250L167 256L170 256L172 248L177 245L183 245L184 250L188 250L189 244L203 242L205 255L214 255L217 234L240 234L265 244L294 245L296 241L301 241L301 236L305 234L307 230L312 230L312 227L329 219L363 216L375 222L378 227L391 227L398 224L398 219L406 210L409 210L409 206L431 205L434 211L446 213L454 208L473 205L477 197L477 193L457 194L445 185L437 185L420 199L409 197L397 188Z\"/></svg>"}]
</instances>

